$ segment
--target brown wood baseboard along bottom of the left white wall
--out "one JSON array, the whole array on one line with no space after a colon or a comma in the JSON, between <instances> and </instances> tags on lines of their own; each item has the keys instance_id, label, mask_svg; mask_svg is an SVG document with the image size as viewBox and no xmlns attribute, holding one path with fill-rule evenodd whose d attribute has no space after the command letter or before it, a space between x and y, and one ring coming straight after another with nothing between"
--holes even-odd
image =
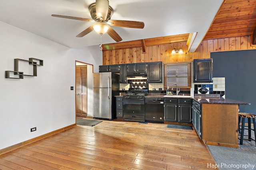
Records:
<instances>
[{"instance_id":1,"label":"brown wood baseboard along bottom of the left white wall","mask_svg":"<svg viewBox=\"0 0 256 170\"><path fill-rule=\"evenodd\" d=\"M61 131L64 131L64 130L66 130L66 129L69 129L70 127L73 127L73 126L75 126L75 125L76 125L76 123L74 123L74 124L72 124L72 125L69 125L69 126L66 126L66 127L63 127L63 128L60 128L60 129L57 129L57 130L55 130L55 131L46 133L46 134L44 134L44 135L35 137L35 138L33 138L33 139L29 139L29 140L27 140L27 141L24 141L24 142L21 142L21 143L17 143L17 144L15 144L15 145L10 146L10 147L1 149L1 150L0 150L0 155L1 155L1 154L4 154L4 153L6 153L6 152L10 152L11 150L17 149L17 148L22 147L22 146L24 146L24 145L28 145L29 143L38 141L38 140L43 139L43 138L46 138L46 137L49 137L49 136L51 136L51 135L53 135L53 134L55 134L55 133L59 133L59 132L61 132Z\"/></svg>"}]
</instances>

